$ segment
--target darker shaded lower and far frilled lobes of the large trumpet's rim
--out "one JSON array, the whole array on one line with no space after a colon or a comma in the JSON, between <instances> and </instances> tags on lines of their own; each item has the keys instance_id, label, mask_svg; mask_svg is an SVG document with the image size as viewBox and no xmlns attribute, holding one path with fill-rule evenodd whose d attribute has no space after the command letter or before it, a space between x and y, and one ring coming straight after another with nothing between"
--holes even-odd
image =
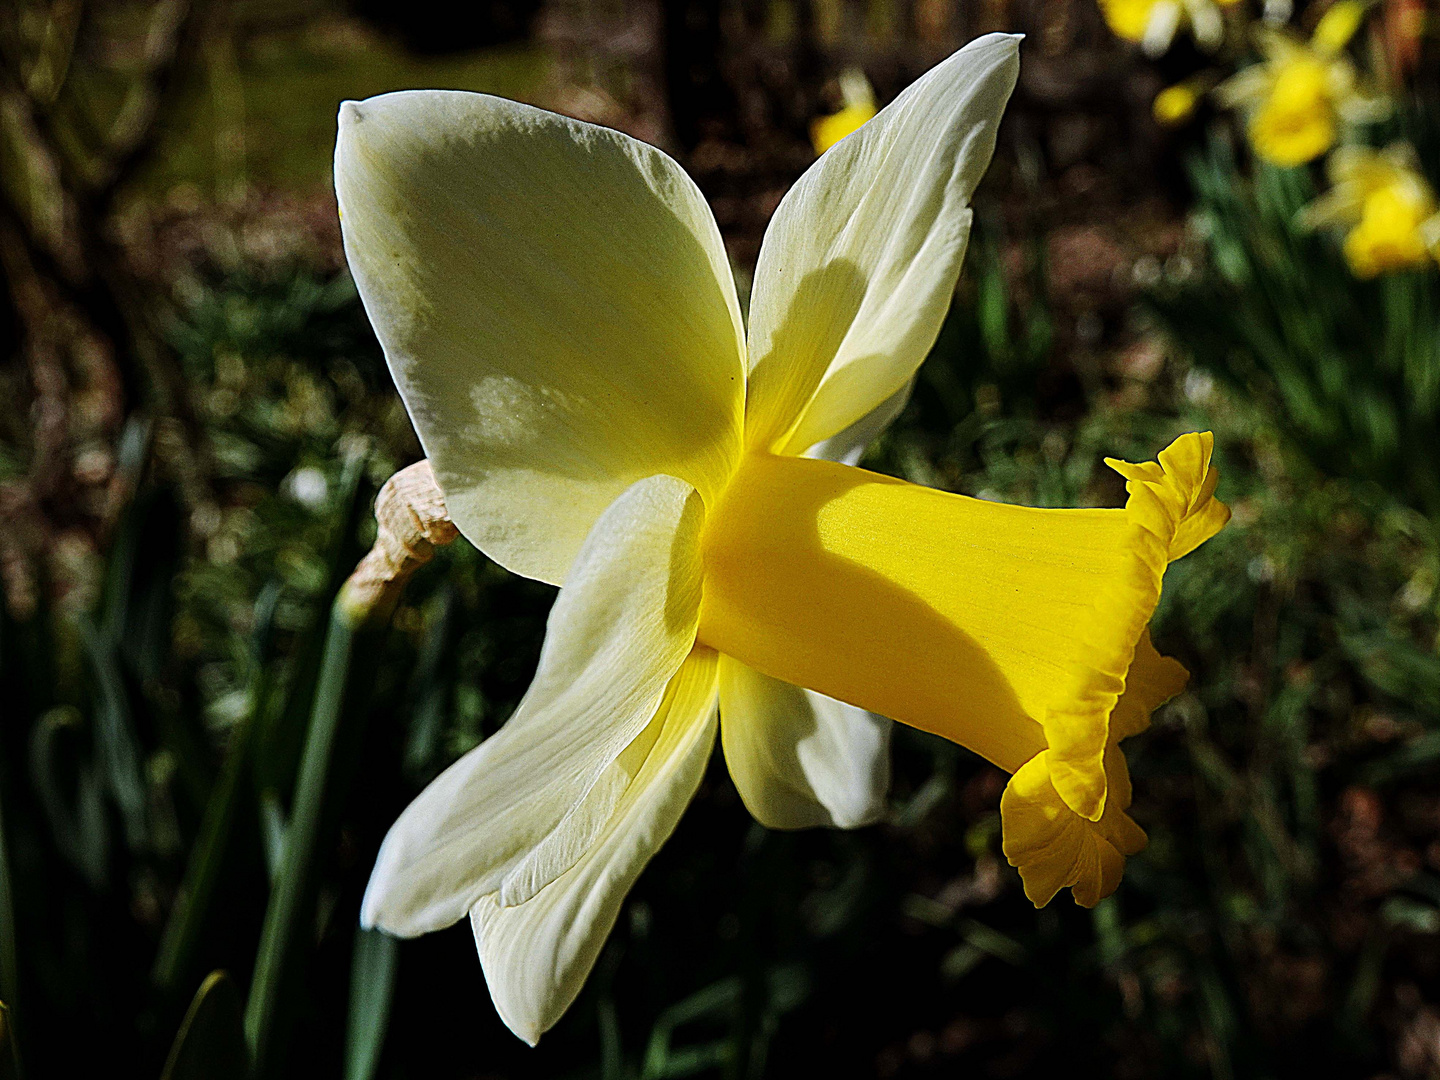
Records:
<instances>
[{"instance_id":1,"label":"darker shaded lower and far frilled lobes of the large trumpet's rim","mask_svg":"<svg viewBox=\"0 0 1440 1080\"><path fill-rule=\"evenodd\" d=\"M1009 778L999 801L1002 847L1035 907L1044 907L1061 888L1071 888L1076 903L1094 907L1120 884L1126 857L1146 841L1126 814L1130 773L1117 743L1143 732L1151 713L1184 690L1187 678L1185 668L1156 652L1149 631L1143 631L1129 685L1110 714L1103 765L1109 798L1099 821L1080 816L1060 798L1051 778L1053 750L1035 755Z\"/></svg>"}]
</instances>

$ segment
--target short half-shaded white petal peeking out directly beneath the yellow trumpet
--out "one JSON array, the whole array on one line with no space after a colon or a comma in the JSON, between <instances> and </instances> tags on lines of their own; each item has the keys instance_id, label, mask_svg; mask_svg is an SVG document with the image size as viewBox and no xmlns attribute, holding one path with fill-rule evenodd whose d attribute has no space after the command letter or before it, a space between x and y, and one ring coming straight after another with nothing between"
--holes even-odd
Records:
<instances>
[{"instance_id":1,"label":"short half-shaded white petal peeking out directly beneath the yellow trumpet","mask_svg":"<svg viewBox=\"0 0 1440 1080\"><path fill-rule=\"evenodd\" d=\"M740 798L775 829L857 828L890 789L884 717L720 657L720 743Z\"/></svg>"}]
</instances>

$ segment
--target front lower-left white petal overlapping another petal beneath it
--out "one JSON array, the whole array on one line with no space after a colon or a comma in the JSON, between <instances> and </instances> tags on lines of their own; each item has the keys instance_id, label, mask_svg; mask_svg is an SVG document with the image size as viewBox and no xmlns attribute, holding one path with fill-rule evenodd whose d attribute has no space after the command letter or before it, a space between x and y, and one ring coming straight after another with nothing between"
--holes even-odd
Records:
<instances>
[{"instance_id":1,"label":"front lower-left white petal overlapping another petal beneath it","mask_svg":"<svg viewBox=\"0 0 1440 1080\"><path fill-rule=\"evenodd\" d=\"M534 893L579 858L595 818L624 795L616 759L694 644L701 520L694 488L652 477L596 521L550 612L534 683L510 721L390 828L364 926L428 933L487 893Z\"/></svg>"}]
</instances>

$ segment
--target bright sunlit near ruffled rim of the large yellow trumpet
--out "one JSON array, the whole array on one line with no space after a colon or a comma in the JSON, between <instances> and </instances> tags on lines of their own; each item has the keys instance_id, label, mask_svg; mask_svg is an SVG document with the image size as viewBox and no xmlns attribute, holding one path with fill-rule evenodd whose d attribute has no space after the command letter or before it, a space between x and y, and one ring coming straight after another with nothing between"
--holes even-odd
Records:
<instances>
[{"instance_id":1,"label":"bright sunlit near ruffled rim of the large yellow trumpet","mask_svg":"<svg viewBox=\"0 0 1440 1080\"><path fill-rule=\"evenodd\" d=\"M1158 462L1104 462L1126 481L1126 547L1132 557L1096 599L1093 629L1073 668L1074 678L1057 696L1061 704L1045 710L1041 721L1050 747L1047 783L1070 811L1092 822L1104 819L1106 747L1119 737L1110 734L1113 714L1159 603L1165 567L1230 520L1230 508L1215 498L1220 474L1210 465L1212 449L1210 432L1191 432L1161 451Z\"/></svg>"}]
</instances>

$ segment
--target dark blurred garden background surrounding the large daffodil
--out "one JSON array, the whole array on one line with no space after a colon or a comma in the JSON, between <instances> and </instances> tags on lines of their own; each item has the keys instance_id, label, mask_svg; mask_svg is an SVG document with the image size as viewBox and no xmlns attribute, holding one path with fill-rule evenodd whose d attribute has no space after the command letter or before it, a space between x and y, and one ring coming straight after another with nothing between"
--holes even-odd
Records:
<instances>
[{"instance_id":1,"label":"dark blurred garden background surrounding the large daffodil","mask_svg":"<svg viewBox=\"0 0 1440 1080\"><path fill-rule=\"evenodd\" d=\"M0 1076L1440 1076L1440 272L1306 228L1322 160L1267 163L1211 94L1326 4L1178 10L1140 48L1094 0L0 4ZM1102 456L1215 431L1234 523L1155 624L1194 678L1128 744L1151 847L1035 912L1004 776L955 746L899 730L848 834L768 832L717 756L528 1050L468 927L356 929L553 590L454 544L321 671L419 454L343 266L336 107L468 88L655 141L743 288L838 76L884 102L998 29L1028 36L966 272L865 464L1117 505ZM1341 45L1392 107L1335 138L1440 181L1434 6Z\"/></svg>"}]
</instances>

